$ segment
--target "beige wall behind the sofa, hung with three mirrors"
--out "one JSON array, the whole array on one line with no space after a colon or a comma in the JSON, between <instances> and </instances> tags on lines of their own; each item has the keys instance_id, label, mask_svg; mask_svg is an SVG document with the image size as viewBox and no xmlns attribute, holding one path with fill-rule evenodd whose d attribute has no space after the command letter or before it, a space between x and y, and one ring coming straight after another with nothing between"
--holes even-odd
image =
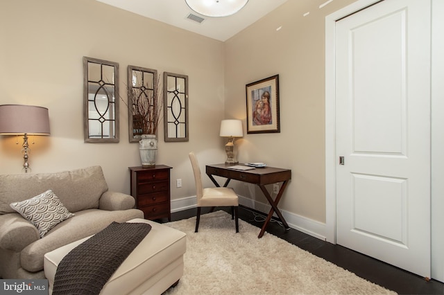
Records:
<instances>
[{"instance_id":1,"label":"beige wall behind the sofa, hung with three mirrors","mask_svg":"<svg viewBox=\"0 0 444 295\"><path fill-rule=\"evenodd\" d=\"M130 192L128 167L140 159L125 106L119 143L83 142L83 56L118 62L121 89L128 65L189 75L189 142L165 143L160 127L157 162L173 167L174 184L182 179L182 188L171 186L173 199L196 195L189 151L202 164L225 160L222 42L92 0L1 1L0 42L0 105L49 109L51 135L35 136L32 172L100 165L110 189ZM22 173L21 145L20 137L0 136L1 174Z\"/></svg>"}]
</instances>

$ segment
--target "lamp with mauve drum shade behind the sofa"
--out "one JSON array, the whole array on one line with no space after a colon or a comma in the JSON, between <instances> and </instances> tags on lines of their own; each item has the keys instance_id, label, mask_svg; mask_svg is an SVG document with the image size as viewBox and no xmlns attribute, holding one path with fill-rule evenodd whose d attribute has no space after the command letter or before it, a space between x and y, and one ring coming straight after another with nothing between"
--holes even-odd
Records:
<instances>
[{"instance_id":1,"label":"lamp with mauve drum shade behind the sofa","mask_svg":"<svg viewBox=\"0 0 444 295\"><path fill-rule=\"evenodd\" d=\"M0 134L23 135L23 168L28 172L28 135L49 134L49 114L46 107L33 105L0 105Z\"/></svg>"}]
</instances>

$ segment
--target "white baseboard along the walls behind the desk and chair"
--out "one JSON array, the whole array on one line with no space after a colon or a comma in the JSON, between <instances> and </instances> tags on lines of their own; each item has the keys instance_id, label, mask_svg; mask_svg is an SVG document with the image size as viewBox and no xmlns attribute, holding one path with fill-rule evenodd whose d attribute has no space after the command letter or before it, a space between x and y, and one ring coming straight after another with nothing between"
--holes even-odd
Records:
<instances>
[{"instance_id":1,"label":"white baseboard along the walls behind the desk and chair","mask_svg":"<svg viewBox=\"0 0 444 295\"><path fill-rule=\"evenodd\" d=\"M239 204L248 208L253 208L254 210L262 212L265 215L271 209L271 206L269 204L257 202L253 199L243 196L239 196ZM187 210L190 208L196 208L196 196L171 200L171 213ZM292 229L297 229L298 231L302 231L302 233L307 233L307 235L311 235L314 238L325 241L325 223L311 220L307 217L303 217L284 210L281 210L281 213ZM277 217L276 214L274 214L273 216Z\"/></svg>"}]
</instances>

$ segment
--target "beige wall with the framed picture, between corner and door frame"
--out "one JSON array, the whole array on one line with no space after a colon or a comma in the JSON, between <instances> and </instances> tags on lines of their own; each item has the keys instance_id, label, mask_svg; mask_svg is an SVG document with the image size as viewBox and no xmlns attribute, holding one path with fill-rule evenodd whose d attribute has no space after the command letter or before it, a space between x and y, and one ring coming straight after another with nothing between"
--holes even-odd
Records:
<instances>
[{"instance_id":1,"label":"beige wall with the framed picture, between corner and door frame","mask_svg":"<svg viewBox=\"0 0 444 295\"><path fill-rule=\"evenodd\" d=\"M246 124L245 84L280 79L281 132L247 134L237 141L239 160L290 168L280 207L318 222L325 222L325 16L354 1L320 9L324 2L287 1L225 42L226 117Z\"/></svg>"}]
</instances>

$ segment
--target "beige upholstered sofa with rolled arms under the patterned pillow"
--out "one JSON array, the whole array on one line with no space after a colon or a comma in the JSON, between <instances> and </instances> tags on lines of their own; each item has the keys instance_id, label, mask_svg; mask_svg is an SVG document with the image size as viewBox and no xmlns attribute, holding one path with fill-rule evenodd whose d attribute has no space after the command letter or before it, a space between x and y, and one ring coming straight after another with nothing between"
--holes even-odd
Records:
<instances>
[{"instance_id":1,"label":"beige upholstered sofa with rolled arms under the patterned pillow","mask_svg":"<svg viewBox=\"0 0 444 295\"><path fill-rule=\"evenodd\" d=\"M52 189L74 213L41 233L11 208ZM47 174L0 175L0 277L44 278L44 254L101 231L111 222L143 218L130 195L108 191L100 166Z\"/></svg>"}]
</instances>

